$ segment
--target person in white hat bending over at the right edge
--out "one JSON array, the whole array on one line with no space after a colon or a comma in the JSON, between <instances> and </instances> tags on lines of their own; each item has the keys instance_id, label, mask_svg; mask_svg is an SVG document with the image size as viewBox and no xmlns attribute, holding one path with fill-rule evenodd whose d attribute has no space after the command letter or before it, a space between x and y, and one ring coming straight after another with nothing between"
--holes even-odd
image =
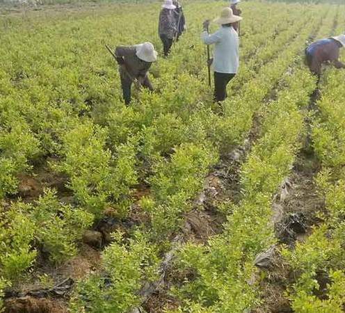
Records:
<instances>
[{"instance_id":1,"label":"person in white hat bending over at the right edge","mask_svg":"<svg viewBox=\"0 0 345 313\"><path fill-rule=\"evenodd\" d=\"M316 40L305 49L305 58L310 71L320 79L321 65L330 62L337 68L345 68L339 61L339 49L345 45L345 35Z\"/></svg>"}]
</instances>

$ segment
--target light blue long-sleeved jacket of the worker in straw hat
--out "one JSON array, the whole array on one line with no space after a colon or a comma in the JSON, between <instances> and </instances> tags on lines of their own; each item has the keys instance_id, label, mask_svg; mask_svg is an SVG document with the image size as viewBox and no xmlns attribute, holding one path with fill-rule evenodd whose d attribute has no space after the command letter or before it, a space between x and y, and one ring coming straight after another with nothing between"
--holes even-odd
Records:
<instances>
[{"instance_id":1,"label":"light blue long-sleeved jacket of the worker in straw hat","mask_svg":"<svg viewBox=\"0 0 345 313\"><path fill-rule=\"evenodd\" d=\"M201 39L206 45L214 44L214 72L236 74L239 68L239 36L230 27L220 26L211 35L203 31Z\"/></svg>"}]
</instances>

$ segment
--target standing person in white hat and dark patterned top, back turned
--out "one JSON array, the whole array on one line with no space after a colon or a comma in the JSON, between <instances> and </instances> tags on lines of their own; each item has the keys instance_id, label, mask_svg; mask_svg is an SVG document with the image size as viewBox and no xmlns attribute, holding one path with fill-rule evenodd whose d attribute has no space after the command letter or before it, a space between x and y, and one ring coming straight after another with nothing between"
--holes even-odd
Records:
<instances>
[{"instance_id":1,"label":"standing person in white hat and dark patterned top, back turned","mask_svg":"<svg viewBox=\"0 0 345 313\"><path fill-rule=\"evenodd\" d=\"M158 33L163 43L164 56L168 56L175 34L177 32L175 8L172 0L165 0L159 13Z\"/></svg>"}]
</instances>

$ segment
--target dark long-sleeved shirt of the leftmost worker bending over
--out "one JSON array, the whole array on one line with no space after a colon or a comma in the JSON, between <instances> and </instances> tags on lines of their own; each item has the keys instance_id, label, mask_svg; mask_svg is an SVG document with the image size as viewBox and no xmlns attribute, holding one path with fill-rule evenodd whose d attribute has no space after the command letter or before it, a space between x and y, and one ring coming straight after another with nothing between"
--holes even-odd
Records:
<instances>
[{"instance_id":1,"label":"dark long-sleeved shirt of the leftmost worker bending over","mask_svg":"<svg viewBox=\"0 0 345 313\"><path fill-rule=\"evenodd\" d=\"M136 56L136 46L118 46L115 49L115 56L118 57L118 62L125 65L125 69L120 67L121 77L129 79L125 70L134 79L144 79L147 77L147 72L152 63L145 62Z\"/></svg>"}]
</instances>

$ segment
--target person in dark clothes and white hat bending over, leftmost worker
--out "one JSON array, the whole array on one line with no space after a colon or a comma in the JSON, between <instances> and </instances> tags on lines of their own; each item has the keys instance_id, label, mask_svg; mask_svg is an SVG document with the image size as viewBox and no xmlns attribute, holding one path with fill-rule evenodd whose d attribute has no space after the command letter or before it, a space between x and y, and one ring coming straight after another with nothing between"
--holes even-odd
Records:
<instances>
[{"instance_id":1,"label":"person in dark clothes and white hat bending over, leftmost worker","mask_svg":"<svg viewBox=\"0 0 345 313\"><path fill-rule=\"evenodd\" d=\"M131 102L131 84L138 83L153 91L147 72L153 62L157 61L157 51L151 42L140 45L118 46L115 48L116 61L120 65L120 79L125 104Z\"/></svg>"}]
</instances>

